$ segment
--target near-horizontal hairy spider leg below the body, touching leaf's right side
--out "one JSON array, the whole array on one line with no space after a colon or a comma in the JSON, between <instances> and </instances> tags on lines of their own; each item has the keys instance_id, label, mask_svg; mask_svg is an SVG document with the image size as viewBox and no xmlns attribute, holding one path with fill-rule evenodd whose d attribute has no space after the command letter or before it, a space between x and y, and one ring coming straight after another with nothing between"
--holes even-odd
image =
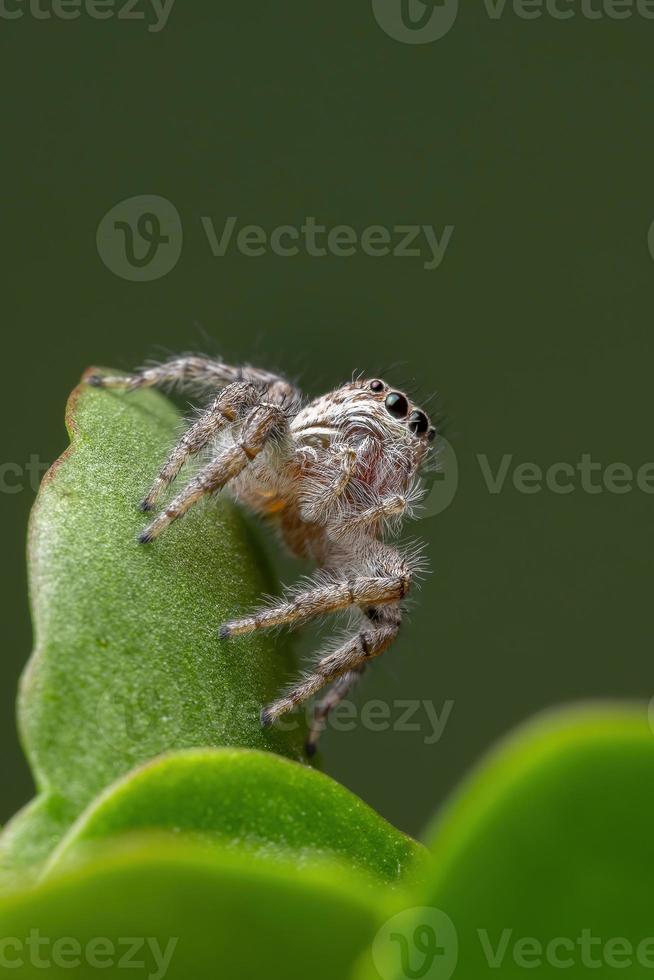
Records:
<instances>
[{"instance_id":1,"label":"near-horizontal hairy spider leg below the body, touching leaf's right side","mask_svg":"<svg viewBox=\"0 0 654 980\"><path fill-rule=\"evenodd\" d=\"M300 592L272 608L260 609L252 616L225 623L220 628L220 638L225 640L258 629L313 619L314 616L338 612L348 606L394 602L404 598L410 584L411 576L405 570L400 570L398 574L359 576L350 581L336 580Z\"/></svg>"}]
</instances>

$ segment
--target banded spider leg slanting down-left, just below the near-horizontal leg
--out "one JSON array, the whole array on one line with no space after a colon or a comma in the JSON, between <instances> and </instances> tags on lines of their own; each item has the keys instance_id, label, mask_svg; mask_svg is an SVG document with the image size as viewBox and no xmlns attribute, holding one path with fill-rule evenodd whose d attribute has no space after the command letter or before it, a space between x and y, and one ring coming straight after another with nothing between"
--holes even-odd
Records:
<instances>
[{"instance_id":1,"label":"banded spider leg slanting down-left, just below the near-horizontal leg","mask_svg":"<svg viewBox=\"0 0 654 980\"><path fill-rule=\"evenodd\" d=\"M349 671L364 667L368 661L382 654L399 632L401 619L399 607L394 607L394 614L394 622L361 630L338 650L323 657L314 667L312 674L278 701L263 709L261 724L266 728L273 725L282 715L288 714L289 711L293 711L298 705L317 694L325 684L342 677Z\"/></svg>"}]
</instances>

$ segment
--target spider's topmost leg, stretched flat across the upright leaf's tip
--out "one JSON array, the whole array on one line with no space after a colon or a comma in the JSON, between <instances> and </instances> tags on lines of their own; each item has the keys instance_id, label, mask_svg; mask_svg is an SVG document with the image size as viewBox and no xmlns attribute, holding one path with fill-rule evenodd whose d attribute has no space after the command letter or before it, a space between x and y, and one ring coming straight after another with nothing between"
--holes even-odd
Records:
<instances>
[{"instance_id":1,"label":"spider's topmost leg, stretched flat across the upright leaf's tip","mask_svg":"<svg viewBox=\"0 0 654 980\"><path fill-rule=\"evenodd\" d=\"M233 381L250 381L266 386L280 385L293 390L291 385L269 371L248 366L233 367L222 361L195 356L175 357L132 375L89 374L85 380L94 388L124 388L127 391L171 382L201 388L224 388Z\"/></svg>"}]
</instances>

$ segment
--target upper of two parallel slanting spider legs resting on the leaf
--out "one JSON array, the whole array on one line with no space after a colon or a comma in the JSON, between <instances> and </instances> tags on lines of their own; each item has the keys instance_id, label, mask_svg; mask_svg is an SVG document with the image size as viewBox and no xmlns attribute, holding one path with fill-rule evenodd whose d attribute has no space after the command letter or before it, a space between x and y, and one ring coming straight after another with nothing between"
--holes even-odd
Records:
<instances>
[{"instance_id":1,"label":"upper of two parallel slanting spider legs resting on the leaf","mask_svg":"<svg viewBox=\"0 0 654 980\"><path fill-rule=\"evenodd\" d=\"M187 460L201 452L221 429L235 422L244 409L251 408L260 398L261 388L248 381L234 381L223 388L172 450L152 489L142 501L141 510L152 510Z\"/></svg>"}]
</instances>

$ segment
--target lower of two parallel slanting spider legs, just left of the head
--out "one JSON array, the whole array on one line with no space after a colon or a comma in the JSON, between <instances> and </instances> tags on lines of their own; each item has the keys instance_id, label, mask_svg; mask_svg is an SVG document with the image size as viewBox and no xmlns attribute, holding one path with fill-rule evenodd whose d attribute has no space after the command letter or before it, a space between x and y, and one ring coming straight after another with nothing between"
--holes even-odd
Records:
<instances>
[{"instance_id":1,"label":"lower of two parallel slanting spider legs, just left of the head","mask_svg":"<svg viewBox=\"0 0 654 980\"><path fill-rule=\"evenodd\" d=\"M266 402L251 409L243 423L239 438L223 449L189 481L187 486L173 498L166 510L145 529L139 541L143 544L153 541L198 500L220 490L226 483L237 477L257 458L270 436L273 433L284 432L287 426L287 415L279 405Z\"/></svg>"}]
</instances>

